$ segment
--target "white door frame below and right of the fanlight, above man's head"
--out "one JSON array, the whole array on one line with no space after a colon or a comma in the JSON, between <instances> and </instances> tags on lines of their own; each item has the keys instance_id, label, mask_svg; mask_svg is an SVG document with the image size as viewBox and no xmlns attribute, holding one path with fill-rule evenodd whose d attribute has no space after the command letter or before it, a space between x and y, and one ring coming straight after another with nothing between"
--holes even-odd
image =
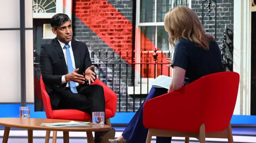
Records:
<instances>
[{"instance_id":1,"label":"white door frame below and right of the fanlight, above man's head","mask_svg":"<svg viewBox=\"0 0 256 143\"><path fill-rule=\"evenodd\" d=\"M56 12L33 13L33 18L52 18L55 14L63 13L63 0L56 0Z\"/></svg>"}]
</instances>

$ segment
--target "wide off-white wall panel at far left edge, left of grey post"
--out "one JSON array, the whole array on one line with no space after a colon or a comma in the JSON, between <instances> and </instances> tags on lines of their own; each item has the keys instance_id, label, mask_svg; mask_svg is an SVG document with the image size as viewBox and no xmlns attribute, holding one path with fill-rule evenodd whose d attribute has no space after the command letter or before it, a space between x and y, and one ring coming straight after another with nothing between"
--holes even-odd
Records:
<instances>
[{"instance_id":1,"label":"wide off-white wall panel at far left edge, left of grey post","mask_svg":"<svg viewBox=\"0 0 256 143\"><path fill-rule=\"evenodd\" d=\"M0 102L20 102L20 2L0 1Z\"/></svg>"}]
</instances>

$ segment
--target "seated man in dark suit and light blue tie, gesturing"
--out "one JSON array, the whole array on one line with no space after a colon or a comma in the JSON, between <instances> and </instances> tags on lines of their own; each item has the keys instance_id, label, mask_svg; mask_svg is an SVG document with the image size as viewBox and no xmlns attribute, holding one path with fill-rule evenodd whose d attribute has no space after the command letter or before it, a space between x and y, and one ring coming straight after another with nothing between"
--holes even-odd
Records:
<instances>
[{"instance_id":1,"label":"seated man in dark suit and light blue tie, gesturing","mask_svg":"<svg viewBox=\"0 0 256 143\"><path fill-rule=\"evenodd\" d=\"M52 109L76 109L88 114L105 112L104 90L100 85L91 85L96 73L90 53L85 43L72 40L70 18L56 14L51 26L56 38L41 45L40 69ZM95 143L114 138L114 134L114 129L97 132Z\"/></svg>"}]
</instances>

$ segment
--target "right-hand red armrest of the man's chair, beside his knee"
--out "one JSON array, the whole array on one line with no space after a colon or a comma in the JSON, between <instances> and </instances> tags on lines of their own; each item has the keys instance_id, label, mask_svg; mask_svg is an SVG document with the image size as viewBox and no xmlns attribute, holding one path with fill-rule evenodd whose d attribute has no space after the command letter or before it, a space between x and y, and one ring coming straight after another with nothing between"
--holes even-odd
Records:
<instances>
[{"instance_id":1,"label":"right-hand red armrest of the man's chair, beside his knee","mask_svg":"<svg viewBox=\"0 0 256 143\"><path fill-rule=\"evenodd\" d=\"M104 89L104 95L106 100L106 109L111 110L112 117L116 114L116 106L117 106L117 95L116 93L110 89L106 84L104 84L102 81L100 81L98 78L92 83L92 84L98 84L101 85Z\"/></svg>"}]
</instances>

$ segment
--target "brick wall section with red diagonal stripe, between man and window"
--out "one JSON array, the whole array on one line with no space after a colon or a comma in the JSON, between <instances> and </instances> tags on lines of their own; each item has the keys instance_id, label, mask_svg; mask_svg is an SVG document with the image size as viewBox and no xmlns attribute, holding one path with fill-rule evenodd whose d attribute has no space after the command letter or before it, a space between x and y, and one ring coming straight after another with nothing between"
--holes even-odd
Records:
<instances>
[{"instance_id":1,"label":"brick wall section with red diagonal stripe, between man and window","mask_svg":"<svg viewBox=\"0 0 256 143\"><path fill-rule=\"evenodd\" d=\"M132 68L130 65L126 68L127 61L132 60L133 51L132 0L74 0L73 5L74 39L86 43L89 51L94 52L91 55L92 63L100 63L100 67L96 68L97 75L102 82L116 92L117 111L119 111L120 98L120 111L126 112L126 78L128 85L132 83ZM113 67L109 64L120 61L121 66L115 64ZM121 76L119 76L120 72ZM137 110L139 105L136 105ZM132 112L133 99L130 96L128 96L127 106L128 112Z\"/></svg>"}]
</instances>

